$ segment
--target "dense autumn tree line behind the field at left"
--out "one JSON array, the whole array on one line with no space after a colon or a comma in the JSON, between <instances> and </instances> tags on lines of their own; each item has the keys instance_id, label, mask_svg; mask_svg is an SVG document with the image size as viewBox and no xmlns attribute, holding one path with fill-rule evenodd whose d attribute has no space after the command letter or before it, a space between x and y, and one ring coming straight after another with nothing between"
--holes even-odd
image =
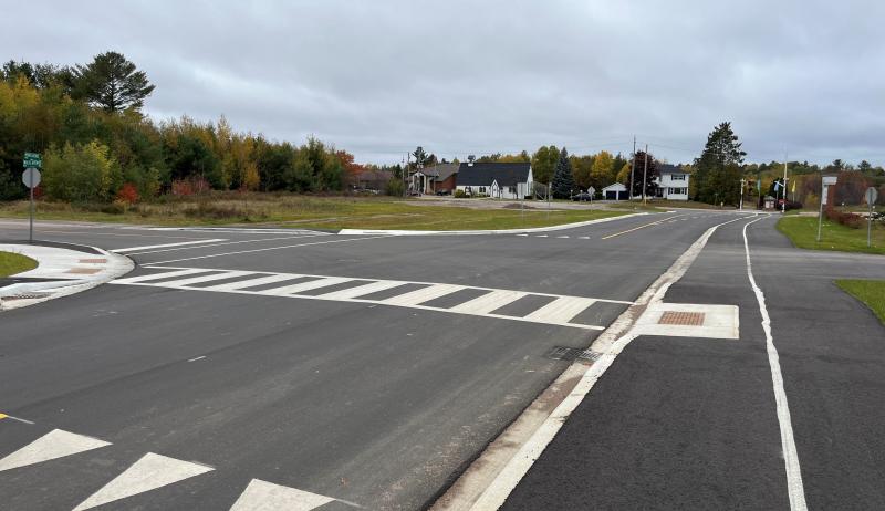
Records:
<instances>
[{"instance_id":1,"label":"dense autumn tree line behind the field at left","mask_svg":"<svg viewBox=\"0 0 885 511\"><path fill-rule=\"evenodd\" d=\"M0 200L24 197L25 152L43 155L42 192L72 201L204 189L339 191L363 169L353 155L316 138L270 140L236 132L223 116L156 123L140 112L153 91L147 75L116 52L74 66L7 62L0 70Z\"/></svg>"}]
</instances>

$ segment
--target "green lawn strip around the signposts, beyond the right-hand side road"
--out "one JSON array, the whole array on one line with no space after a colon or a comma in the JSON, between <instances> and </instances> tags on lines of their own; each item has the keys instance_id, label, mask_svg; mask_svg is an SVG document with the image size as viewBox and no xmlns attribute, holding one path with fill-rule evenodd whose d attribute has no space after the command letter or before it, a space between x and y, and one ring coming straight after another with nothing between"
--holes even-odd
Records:
<instances>
[{"instance_id":1,"label":"green lawn strip around the signposts, beyond the right-hand side road","mask_svg":"<svg viewBox=\"0 0 885 511\"><path fill-rule=\"evenodd\" d=\"M873 247L871 248L866 247L866 226L861 229L852 229L824 219L820 242L816 241L816 217L788 216L781 218L778 222L778 230L801 249L885 254L885 226L882 226L882 222L873 225Z\"/></svg>"}]
</instances>

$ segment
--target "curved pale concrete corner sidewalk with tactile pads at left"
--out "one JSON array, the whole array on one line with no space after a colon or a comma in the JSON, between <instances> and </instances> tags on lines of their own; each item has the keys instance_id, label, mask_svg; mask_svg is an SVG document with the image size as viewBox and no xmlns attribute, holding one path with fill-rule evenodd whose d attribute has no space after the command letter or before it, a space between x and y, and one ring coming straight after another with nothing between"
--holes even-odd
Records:
<instances>
[{"instance_id":1,"label":"curved pale concrete corner sidewalk with tactile pads at left","mask_svg":"<svg viewBox=\"0 0 885 511\"><path fill-rule=\"evenodd\" d=\"M0 243L0 251L20 253L38 262L31 271L0 279L0 311L79 293L135 268L135 263L123 255L67 243L15 241Z\"/></svg>"}]
</instances>

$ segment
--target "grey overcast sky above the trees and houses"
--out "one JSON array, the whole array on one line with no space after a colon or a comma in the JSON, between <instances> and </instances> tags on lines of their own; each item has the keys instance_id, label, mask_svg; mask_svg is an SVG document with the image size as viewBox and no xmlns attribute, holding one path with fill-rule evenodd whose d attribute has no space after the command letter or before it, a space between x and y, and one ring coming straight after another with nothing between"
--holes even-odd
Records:
<instances>
[{"instance_id":1,"label":"grey overcast sky above the trees and houses","mask_svg":"<svg viewBox=\"0 0 885 511\"><path fill-rule=\"evenodd\" d=\"M885 165L885 2L0 0L3 60L115 50L157 86L155 118L225 115L398 161L698 155L731 121L750 161Z\"/></svg>"}]
</instances>

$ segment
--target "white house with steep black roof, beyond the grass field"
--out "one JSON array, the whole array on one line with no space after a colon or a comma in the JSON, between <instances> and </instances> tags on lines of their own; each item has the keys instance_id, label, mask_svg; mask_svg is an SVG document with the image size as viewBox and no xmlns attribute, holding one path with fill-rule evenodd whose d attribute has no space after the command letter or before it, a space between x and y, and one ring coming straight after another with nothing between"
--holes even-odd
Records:
<instances>
[{"instance_id":1,"label":"white house with steep black roof, beyond the grass field","mask_svg":"<svg viewBox=\"0 0 885 511\"><path fill-rule=\"evenodd\" d=\"M529 197L534 190L532 166L525 163L469 163L458 168L456 190L499 199Z\"/></svg>"}]
</instances>

